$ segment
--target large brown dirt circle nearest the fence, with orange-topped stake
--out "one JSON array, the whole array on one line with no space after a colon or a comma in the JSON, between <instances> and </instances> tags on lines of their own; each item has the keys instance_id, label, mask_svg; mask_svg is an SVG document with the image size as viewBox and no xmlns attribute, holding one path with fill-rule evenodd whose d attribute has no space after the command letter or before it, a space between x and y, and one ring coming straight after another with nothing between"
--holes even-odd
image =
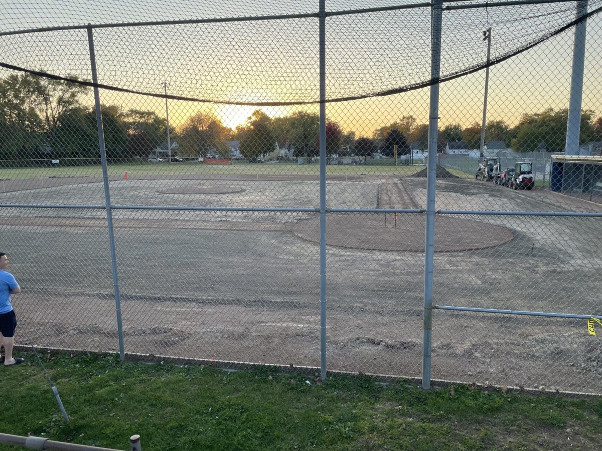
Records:
<instances>
[{"instance_id":1,"label":"large brown dirt circle nearest the fence, with orange-topped stake","mask_svg":"<svg viewBox=\"0 0 602 451\"><path fill-rule=\"evenodd\" d=\"M386 216L386 223L385 223ZM424 251L424 215L399 213L343 213L327 215L326 244L371 251ZM318 218L297 223L293 234L320 242ZM509 242L514 235L506 227L472 219L436 216L435 252L470 251Z\"/></svg>"}]
</instances>

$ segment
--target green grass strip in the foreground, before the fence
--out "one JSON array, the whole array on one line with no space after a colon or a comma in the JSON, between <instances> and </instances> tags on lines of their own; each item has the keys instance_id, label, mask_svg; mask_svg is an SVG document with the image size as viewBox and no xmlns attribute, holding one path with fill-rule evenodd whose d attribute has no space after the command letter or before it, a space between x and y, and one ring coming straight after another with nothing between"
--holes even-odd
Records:
<instances>
[{"instance_id":1,"label":"green grass strip in the foreground, before the fence","mask_svg":"<svg viewBox=\"0 0 602 451\"><path fill-rule=\"evenodd\" d=\"M602 400L469 387L423 391L367 376L313 378L273 369L119 363L114 355L42 356L65 423L32 354L0 368L0 432L151 450L596 449ZM570 438L570 440L568 439ZM2 447L2 450L13 449Z\"/></svg>"}]
</instances>

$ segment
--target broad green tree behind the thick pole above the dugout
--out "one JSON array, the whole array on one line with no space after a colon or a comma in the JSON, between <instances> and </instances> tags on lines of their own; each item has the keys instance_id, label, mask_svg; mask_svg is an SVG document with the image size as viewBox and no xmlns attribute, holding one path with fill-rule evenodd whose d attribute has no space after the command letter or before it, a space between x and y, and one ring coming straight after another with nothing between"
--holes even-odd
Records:
<instances>
[{"instance_id":1,"label":"broad green tree behind the thick pole above the dugout","mask_svg":"<svg viewBox=\"0 0 602 451\"><path fill-rule=\"evenodd\" d=\"M585 144L595 136L594 112L581 113L579 143ZM547 152L564 152L566 145L567 109L548 108L539 113L525 114L514 129L512 149L516 152L532 152L545 146Z\"/></svg>"}]
</instances>

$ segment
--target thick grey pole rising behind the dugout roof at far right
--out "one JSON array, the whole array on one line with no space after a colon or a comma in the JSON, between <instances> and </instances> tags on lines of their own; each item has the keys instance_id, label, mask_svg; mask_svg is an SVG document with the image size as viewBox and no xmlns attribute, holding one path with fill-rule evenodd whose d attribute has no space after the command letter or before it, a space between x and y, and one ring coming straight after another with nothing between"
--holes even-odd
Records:
<instances>
[{"instance_id":1,"label":"thick grey pole rising behind the dugout roof at far right","mask_svg":"<svg viewBox=\"0 0 602 451\"><path fill-rule=\"evenodd\" d=\"M588 13L588 1L577 1L576 19ZM573 68L571 71L571 96L566 123L566 155L579 155L579 132L581 128L581 103L583 97L583 66L585 64L585 32L587 20L575 25L573 43Z\"/></svg>"}]
</instances>

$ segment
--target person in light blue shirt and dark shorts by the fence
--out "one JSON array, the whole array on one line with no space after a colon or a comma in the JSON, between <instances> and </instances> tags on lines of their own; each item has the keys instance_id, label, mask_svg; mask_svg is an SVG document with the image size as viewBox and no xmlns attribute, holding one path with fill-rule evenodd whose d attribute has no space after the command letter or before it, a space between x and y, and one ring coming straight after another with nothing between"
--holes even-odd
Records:
<instances>
[{"instance_id":1,"label":"person in light blue shirt and dark shorts by the fence","mask_svg":"<svg viewBox=\"0 0 602 451\"><path fill-rule=\"evenodd\" d=\"M17 327L17 317L14 314L13 305L10 303L10 295L21 292L21 287L10 272L8 257L0 252L0 338L4 345L4 355L0 355L0 362L4 366L22 363L22 358L13 358L14 329Z\"/></svg>"}]
</instances>

